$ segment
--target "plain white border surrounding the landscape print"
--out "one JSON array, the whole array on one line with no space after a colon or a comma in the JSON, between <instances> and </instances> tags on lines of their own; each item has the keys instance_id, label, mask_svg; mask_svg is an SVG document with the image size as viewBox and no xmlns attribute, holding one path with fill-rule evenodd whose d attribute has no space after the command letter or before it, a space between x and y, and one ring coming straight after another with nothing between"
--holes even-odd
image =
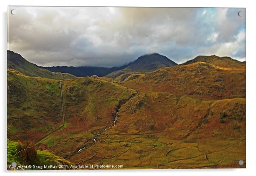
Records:
<instances>
[{"instance_id":1,"label":"plain white border surrounding the landscape print","mask_svg":"<svg viewBox=\"0 0 256 176\"><path fill-rule=\"evenodd\" d=\"M181 169L181 170L82 170L82 171L47 171L47 175L149 175L155 176L161 175L189 175L189 176L216 176L216 175L253 175L256 173L254 164L255 150L256 150L256 115L254 110L254 104L256 100L255 88L255 70L256 70L256 50L255 50L255 16L256 8L253 1L245 0L68 0L68 1L54 1L54 0L2 0L0 5L1 9L1 86L0 86L0 112L1 112L1 149L0 149L0 168L3 175L14 175L15 173L20 176L29 175L45 175L42 171L37 172L7 172L6 171L6 24L7 5L50 5L50 6L150 6L150 7L242 7L246 8L246 169Z\"/></svg>"}]
</instances>

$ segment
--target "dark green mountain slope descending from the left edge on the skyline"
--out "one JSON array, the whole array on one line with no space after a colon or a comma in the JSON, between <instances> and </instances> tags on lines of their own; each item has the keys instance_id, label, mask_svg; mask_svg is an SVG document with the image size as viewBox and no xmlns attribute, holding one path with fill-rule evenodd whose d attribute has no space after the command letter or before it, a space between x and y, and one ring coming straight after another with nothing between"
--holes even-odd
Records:
<instances>
[{"instance_id":1,"label":"dark green mountain slope descending from the left edge on the skyline","mask_svg":"<svg viewBox=\"0 0 256 176\"><path fill-rule=\"evenodd\" d=\"M20 54L7 50L7 69L14 69L26 76L44 77L51 79L71 79L75 76L67 73L53 73L46 69L42 69L34 63L28 62Z\"/></svg>"}]
</instances>

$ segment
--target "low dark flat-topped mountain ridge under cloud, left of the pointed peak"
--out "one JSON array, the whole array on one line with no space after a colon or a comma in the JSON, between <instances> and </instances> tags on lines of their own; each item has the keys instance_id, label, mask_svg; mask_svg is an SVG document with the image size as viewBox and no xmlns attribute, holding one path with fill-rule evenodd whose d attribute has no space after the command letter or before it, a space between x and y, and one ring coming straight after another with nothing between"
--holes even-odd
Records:
<instances>
[{"instance_id":1,"label":"low dark flat-topped mountain ridge under cloud, left of the pointed peak","mask_svg":"<svg viewBox=\"0 0 256 176\"><path fill-rule=\"evenodd\" d=\"M92 76L94 74L99 77L102 77L113 71L124 69L126 66L127 65L120 66L120 67L112 67L112 68L93 67L93 66L80 66L80 67L74 67L74 66L42 67L40 66L40 68L47 69L52 72L70 73L70 74L74 74L76 77L86 77L86 76Z\"/></svg>"}]
</instances>

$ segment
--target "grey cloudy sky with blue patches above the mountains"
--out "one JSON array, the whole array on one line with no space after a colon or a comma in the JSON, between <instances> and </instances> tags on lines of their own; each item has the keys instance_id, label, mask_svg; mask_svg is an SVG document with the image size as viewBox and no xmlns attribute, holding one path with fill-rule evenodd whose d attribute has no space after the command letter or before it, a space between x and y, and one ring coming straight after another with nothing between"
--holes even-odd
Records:
<instances>
[{"instance_id":1,"label":"grey cloudy sky with blue patches above the mountains","mask_svg":"<svg viewBox=\"0 0 256 176\"><path fill-rule=\"evenodd\" d=\"M197 55L245 60L244 8L9 7L8 13L8 49L40 66L121 66L153 52L176 63Z\"/></svg>"}]
</instances>

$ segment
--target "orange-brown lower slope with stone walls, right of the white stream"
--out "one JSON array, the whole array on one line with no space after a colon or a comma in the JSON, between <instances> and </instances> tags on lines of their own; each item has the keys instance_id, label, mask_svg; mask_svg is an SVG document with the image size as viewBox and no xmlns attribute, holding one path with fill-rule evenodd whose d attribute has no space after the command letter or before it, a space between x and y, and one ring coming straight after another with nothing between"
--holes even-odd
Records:
<instances>
[{"instance_id":1,"label":"orange-brown lower slope with stone walls, right of the white stream","mask_svg":"<svg viewBox=\"0 0 256 176\"><path fill-rule=\"evenodd\" d=\"M126 169L245 167L237 164L245 161L245 99L138 93L118 115L97 143L68 159Z\"/></svg>"}]
</instances>

